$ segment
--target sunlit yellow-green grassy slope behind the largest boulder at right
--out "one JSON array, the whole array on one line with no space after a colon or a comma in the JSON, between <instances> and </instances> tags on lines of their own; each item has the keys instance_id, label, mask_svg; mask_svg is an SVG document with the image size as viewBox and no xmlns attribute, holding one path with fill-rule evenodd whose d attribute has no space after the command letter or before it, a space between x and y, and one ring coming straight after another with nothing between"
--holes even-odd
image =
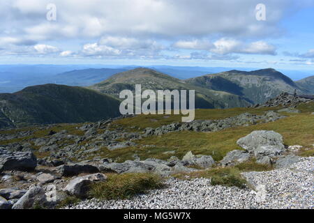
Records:
<instances>
[{"instance_id":1,"label":"sunlit yellow-green grassy slope behind the largest boulder at right","mask_svg":"<svg viewBox=\"0 0 314 223\"><path fill-rule=\"evenodd\" d=\"M314 118L308 114L294 114L276 122L260 123L246 127L229 128L219 132L170 132L162 136L151 136L136 141L139 146L110 151L106 155L121 157L123 161L135 151L141 158L154 157L165 160L172 155L182 158L188 151L198 155L211 155L218 161L230 151L240 149L237 140L254 130L274 130L283 135L287 145L301 145L312 148L314 144ZM154 148L142 148L140 145L155 145ZM174 154L163 154L175 151ZM121 161L121 162L122 162Z\"/></svg>"}]
</instances>

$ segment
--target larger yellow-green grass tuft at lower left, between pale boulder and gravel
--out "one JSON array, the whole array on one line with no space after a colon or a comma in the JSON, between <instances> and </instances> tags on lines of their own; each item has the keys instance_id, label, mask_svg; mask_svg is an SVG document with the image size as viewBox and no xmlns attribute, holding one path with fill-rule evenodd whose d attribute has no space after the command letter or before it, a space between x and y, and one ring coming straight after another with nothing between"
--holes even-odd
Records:
<instances>
[{"instance_id":1,"label":"larger yellow-green grass tuft at lower left, between pale boulder and gravel","mask_svg":"<svg viewBox=\"0 0 314 223\"><path fill-rule=\"evenodd\" d=\"M90 197L97 199L130 199L147 190L163 187L160 176L155 174L107 174L105 182L91 185Z\"/></svg>"}]
</instances>

